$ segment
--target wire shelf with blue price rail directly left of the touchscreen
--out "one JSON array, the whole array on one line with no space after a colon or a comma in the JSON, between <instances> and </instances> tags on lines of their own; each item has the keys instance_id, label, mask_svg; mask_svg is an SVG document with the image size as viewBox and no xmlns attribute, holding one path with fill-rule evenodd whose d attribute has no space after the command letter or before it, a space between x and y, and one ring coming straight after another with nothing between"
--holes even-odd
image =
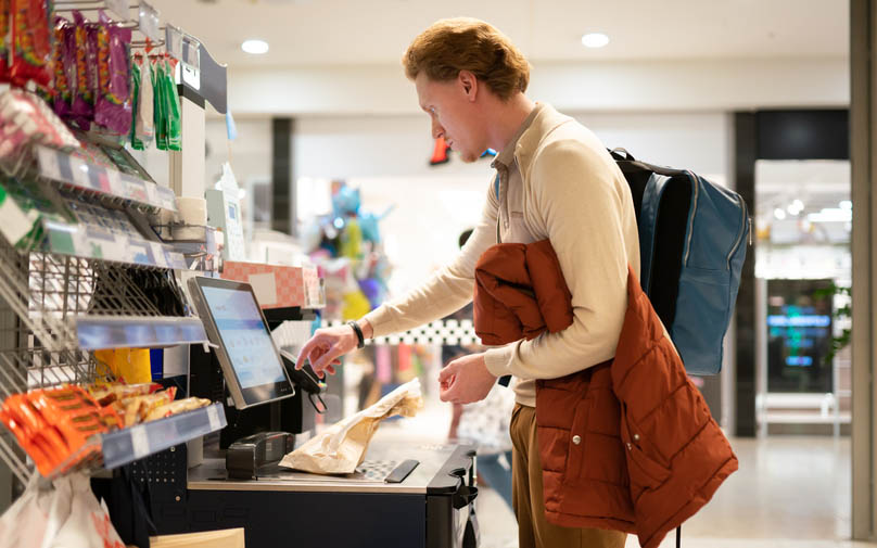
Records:
<instances>
[{"instance_id":1,"label":"wire shelf with blue price rail directly left of the touchscreen","mask_svg":"<svg viewBox=\"0 0 877 548\"><path fill-rule=\"evenodd\" d=\"M207 341L169 270L27 254L0 242L0 297L52 352Z\"/></svg>"}]
</instances>

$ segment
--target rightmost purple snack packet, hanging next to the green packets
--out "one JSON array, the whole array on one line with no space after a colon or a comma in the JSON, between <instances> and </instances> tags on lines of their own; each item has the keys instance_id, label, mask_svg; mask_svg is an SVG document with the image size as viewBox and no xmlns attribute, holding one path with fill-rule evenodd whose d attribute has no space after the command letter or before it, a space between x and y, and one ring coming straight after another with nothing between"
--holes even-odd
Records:
<instances>
[{"instance_id":1,"label":"rightmost purple snack packet, hanging next to the green packets","mask_svg":"<svg viewBox=\"0 0 877 548\"><path fill-rule=\"evenodd\" d=\"M110 24L100 12L98 29L98 85L94 122L113 135L127 136L131 128L130 63L131 29Z\"/></svg>"}]
</instances>

